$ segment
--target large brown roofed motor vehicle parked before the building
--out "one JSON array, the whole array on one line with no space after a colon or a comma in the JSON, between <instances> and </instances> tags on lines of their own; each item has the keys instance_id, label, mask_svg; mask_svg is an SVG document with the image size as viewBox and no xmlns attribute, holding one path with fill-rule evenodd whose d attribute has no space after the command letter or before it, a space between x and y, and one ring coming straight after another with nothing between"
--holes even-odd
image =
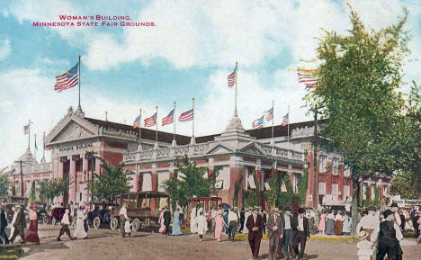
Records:
<instances>
[{"instance_id":1,"label":"large brown roofed motor vehicle parked before the building","mask_svg":"<svg viewBox=\"0 0 421 260\"><path fill-rule=\"evenodd\" d=\"M143 228L158 229L160 205L168 205L168 194L161 192L126 193L115 196L117 206L112 210L110 228L117 229L120 223L120 209L127 202L127 216L132 219L133 230ZM151 207L152 206L152 207ZM151 210L153 208L154 210Z\"/></svg>"}]
</instances>

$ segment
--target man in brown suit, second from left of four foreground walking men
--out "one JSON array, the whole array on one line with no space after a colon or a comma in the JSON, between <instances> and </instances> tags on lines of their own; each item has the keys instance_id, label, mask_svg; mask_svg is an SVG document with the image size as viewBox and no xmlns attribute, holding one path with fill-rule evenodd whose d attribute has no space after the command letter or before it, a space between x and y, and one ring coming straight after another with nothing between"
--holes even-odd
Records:
<instances>
[{"instance_id":1,"label":"man in brown suit, second from left of four foreground walking men","mask_svg":"<svg viewBox=\"0 0 421 260\"><path fill-rule=\"evenodd\" d=\"M269 238L269 259L273 260L277 252L282 255L282 247L280 245L280 240L282 239L283 234L283 225L282 219L279 215L279 209L274 208L273 211L269 214L267 220L267 238Z\"/></svg>"}]
</instances>

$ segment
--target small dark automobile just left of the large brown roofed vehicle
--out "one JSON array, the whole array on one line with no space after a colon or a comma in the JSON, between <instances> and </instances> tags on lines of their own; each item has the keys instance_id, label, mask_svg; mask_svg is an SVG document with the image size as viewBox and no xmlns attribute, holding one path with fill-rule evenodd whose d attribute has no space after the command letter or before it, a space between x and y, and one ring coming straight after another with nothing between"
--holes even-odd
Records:
<instances>
[{"instance_id":1,"label":"small dark automobile just left of the large brown roofed vehicle","mask_svg":"<svg viewBox=\"0 0 421 260\"><path fill-rule=\"evenodd\" d=\"M116 207L111 202L90 202L89 208L92 209L87 213L88 224L94 229L99 229L101 224L109 225L112 219L112 209Z\"/></svg>"}]
</instances>

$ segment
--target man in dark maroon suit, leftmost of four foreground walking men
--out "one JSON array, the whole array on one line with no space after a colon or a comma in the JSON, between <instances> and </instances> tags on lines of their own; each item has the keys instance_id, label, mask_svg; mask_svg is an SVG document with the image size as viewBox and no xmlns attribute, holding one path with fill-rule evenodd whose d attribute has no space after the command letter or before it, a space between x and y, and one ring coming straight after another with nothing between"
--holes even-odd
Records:
<instances>
[{"instance_id":1,"label":"man in dark maroon suit, leftmost of four foreground walking men","mask_svg":"<svg viewBox=\"0 0 421 260\"><path fill-rule=\"evenodd\" d=\"M259 214L259 208L255 207L252 214L246 220L246 228L248 229L248 243L253 253L253 260L259 257L260 241L262 240L264 222L262 215Z\"/></svg>"}]
</instances>

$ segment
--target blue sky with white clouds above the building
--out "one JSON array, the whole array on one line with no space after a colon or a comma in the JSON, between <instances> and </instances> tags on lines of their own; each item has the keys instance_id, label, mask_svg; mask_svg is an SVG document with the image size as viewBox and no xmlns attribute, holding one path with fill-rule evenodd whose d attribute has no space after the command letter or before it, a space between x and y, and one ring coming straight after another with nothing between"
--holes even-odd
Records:
<instances>
[{"instance_id":1,"label":"blue sky with white clouds above the building","mask_svg":"<svg viewBox=\"0 0 421 260\"><path fill-rule=\"evenodd\" d=\"M0 168L28 148L22 126L31 119L31 151L42 133L78 103L78 88L55 92L55 76L81 55L81 106L86 117L132 124L158 106L161 121L192 108L195 136L225 130L234 112L234 89L227 76L238 62L237 110L246 129L274 102L274 124L290 106L290 121L309 121L306 94L295 67L314 67L321 28L345 34L351 29L346 1L98 1L2 0L0 5ZM379 30L397 21L407 7L412 40L404 73L421 82L421 4L417 0L350 1L363 22ZM99 26L36 27L60 22L59 15L94 16ZM124 22L155 26L101 26L96 15L129 16ZM63 22L63 21L61 21ZM77 21L66 21L77 22ZM408 89L403 85L402 89ZM271 125L272 122L267 122ZM171 132L172 125L158 130ZM192 124L176 124L191 135ZM49 152L46 151L49 158Z\"/></svg>"}]
</instances>

